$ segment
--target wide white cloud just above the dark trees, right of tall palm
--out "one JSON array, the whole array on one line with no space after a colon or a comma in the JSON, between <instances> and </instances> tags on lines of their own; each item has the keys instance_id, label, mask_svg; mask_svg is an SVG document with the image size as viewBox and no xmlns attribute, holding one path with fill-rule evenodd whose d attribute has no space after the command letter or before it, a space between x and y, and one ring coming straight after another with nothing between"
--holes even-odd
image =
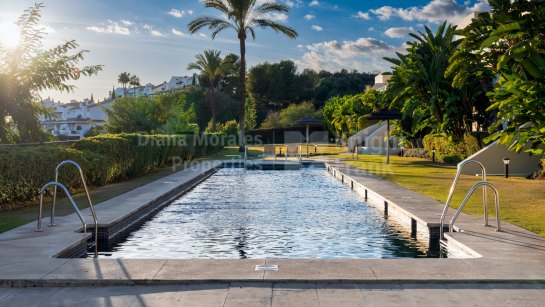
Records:
<instances>
[{"instance_id":1,"label":"wide white cloud just above the dark trees, right of tall palm","mask_svg":"<svg viewBox=\"0 0 545 307\"><path fill-rule=\"evenodd\" d=\"M359 38L355 41L328 41L305 46L306 51L294 62L301 69L320 71L340 69L358 71L385 70L389 64L382 59L396 50L388 43L374 38Z\"/></svg>"}]
</instances>

